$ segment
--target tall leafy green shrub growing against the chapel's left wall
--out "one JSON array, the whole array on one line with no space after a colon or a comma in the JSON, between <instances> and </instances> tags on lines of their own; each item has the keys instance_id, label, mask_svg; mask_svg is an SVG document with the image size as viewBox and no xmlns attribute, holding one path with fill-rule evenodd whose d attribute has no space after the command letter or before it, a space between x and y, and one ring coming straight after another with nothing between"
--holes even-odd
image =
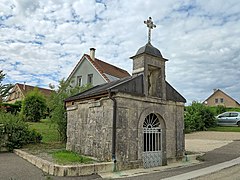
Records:
<instances>
[{"instance_id":1,"label":"tall leafy green shrub growing against the chapel's left wall","mask_svg":"<svg viewBox=\"0 0 240 180\"><path fill-rule=\"evenodd\" d=\"M60 140L62 142L66 142L67 140L67 112L65 109L64 100L91 87L91 84L71 87L69 82L62 79L59 82L58 89L50 97L48 101L48 107L50 109L50 119L53 123L57 125ZM54 86L50 85L50 88L54 89Z\"/></svg>"}]
</instances>

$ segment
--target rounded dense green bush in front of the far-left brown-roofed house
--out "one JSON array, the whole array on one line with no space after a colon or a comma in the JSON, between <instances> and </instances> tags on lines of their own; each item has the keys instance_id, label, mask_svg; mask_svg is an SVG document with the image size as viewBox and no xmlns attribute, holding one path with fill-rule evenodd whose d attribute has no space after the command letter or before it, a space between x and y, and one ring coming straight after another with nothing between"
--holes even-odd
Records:
<instances>
[{"instance_id":1,"label":"rounded dense green bush in front of the far-left brown-roofed house","mask_svg":"<svg viewBox=\"0 0 240 180\"><path fill-rule=\"evenodd\" d=\"M34 88L22 102L21 115L26 121L39 122L44 117L46 109L45 97L39 92L38 88Z\"/></svg>"}]
</instances>

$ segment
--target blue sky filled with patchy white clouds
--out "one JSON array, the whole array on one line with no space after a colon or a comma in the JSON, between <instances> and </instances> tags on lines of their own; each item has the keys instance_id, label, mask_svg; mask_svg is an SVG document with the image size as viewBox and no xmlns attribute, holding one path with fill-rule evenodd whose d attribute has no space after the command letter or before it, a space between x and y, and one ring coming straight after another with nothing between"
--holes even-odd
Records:
<instances>
[{"instance_id":1,"label":"blue sky filled with patchy white clouds","mask_svg":"<svg viewBox=\"0 0 240 180\"><path fill-rule=\"evenodd\" d=\"M239 0L0 0L4 83L58 85L84 53L132 72L129 57L151 43L167 81L186 99L221 89L240 102Z\"/></svg>"}]
</instances>

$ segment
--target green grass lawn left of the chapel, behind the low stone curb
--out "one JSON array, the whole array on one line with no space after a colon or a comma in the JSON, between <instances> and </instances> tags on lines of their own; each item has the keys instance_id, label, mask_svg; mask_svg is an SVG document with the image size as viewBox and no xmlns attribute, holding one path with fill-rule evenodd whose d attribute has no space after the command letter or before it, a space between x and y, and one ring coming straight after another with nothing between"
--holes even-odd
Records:
<instances>
[{"instance_id":1,"label":"green grass lawn left of the chapel, behind the low stone curb","mask_svg":"<svg viewBox=\"0 0 240 180\"><path fill-rule=\"evenodd\" d=\"M58 164L96 162L89 157L65 150L65 144L59 141L56 125L51 123L49 119L43 119L40 122L28 122L28 125L30 129L35 129L39 132L43 139L39 144L28 144L24 146L27 152Z\"/></svg>"}]
</instances>

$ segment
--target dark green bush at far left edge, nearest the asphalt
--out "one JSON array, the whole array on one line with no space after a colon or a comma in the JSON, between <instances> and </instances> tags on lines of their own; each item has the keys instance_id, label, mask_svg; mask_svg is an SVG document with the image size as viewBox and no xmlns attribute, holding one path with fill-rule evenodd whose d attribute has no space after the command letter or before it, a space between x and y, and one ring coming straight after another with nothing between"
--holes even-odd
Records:
<instances>
[{"instance_id":1,"label":"dark green bush at far left edge, nearest the asphalt","mask_svg":"<svg viewBox=\"0 0 240 180\"><path fill-rule=\"evenodd\" d=\"M39 143L42 139L41 134L29 130L24 121L12 114L0 111L0 124L2 124L0 138L1 141L5 141L0 144L5 144L9 151L21 148L25 144Z\"/></svg>"}]
</instances>

